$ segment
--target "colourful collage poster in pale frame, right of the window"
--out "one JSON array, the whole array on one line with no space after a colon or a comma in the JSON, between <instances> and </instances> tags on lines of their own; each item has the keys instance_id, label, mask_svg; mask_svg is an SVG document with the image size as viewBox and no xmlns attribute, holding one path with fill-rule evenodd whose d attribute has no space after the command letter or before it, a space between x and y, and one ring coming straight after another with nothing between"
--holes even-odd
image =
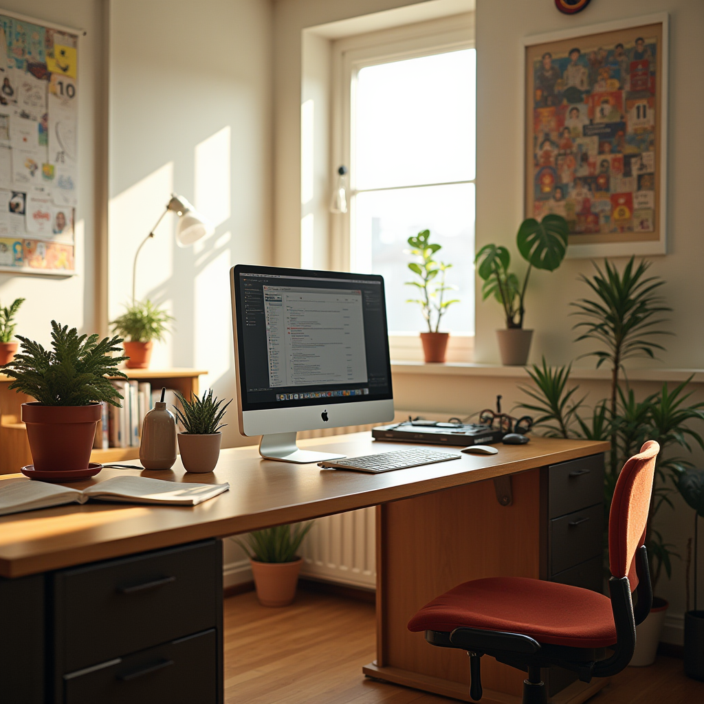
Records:
<instances>
[{"instance_id":1,"label":"colourful collage poster in pale frame, right of the window","mask_svg":"<svg viewBox=\"0 0 704 704\"><path fill-rule=\"evenodd\" d=\"M525 217L568 257L665 254L667 14L524 38Z\"/></svg>"}]
</instances>

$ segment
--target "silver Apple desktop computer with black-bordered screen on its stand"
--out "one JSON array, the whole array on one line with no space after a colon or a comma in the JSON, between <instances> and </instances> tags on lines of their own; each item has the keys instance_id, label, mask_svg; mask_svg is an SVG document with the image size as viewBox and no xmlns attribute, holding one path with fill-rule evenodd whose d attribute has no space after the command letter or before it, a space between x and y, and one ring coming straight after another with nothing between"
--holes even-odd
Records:
<instances>
[{"instance_id":1,"label":"silver Apple desktop computer with black-bordered screen on its stand","mask_svg":"<svg viewBox=\"0 0 704 704\"><path fill-rule=\"evenodd\" d=\"M337 459L296 432L393 419L381 276L239 264L230 286L239 429L262 457Z\"/></svg>"}]
</instances>

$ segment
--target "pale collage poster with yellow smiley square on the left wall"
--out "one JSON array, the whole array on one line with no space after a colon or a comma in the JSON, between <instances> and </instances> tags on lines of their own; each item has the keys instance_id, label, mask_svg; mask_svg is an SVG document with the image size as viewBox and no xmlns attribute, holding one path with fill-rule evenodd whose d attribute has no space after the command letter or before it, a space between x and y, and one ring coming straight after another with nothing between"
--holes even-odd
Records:
<instances>
[{"instance_id":1,"label":"pale collage poster with yellow smiley square on the left wall","mask_svg":"<svg viewBox=\"0 0 704 704\"><path fill-rule=\"evenodd\" d=\"M77 44L0 15L0 270L75 268Z\"/></svg>"}]
</instances>

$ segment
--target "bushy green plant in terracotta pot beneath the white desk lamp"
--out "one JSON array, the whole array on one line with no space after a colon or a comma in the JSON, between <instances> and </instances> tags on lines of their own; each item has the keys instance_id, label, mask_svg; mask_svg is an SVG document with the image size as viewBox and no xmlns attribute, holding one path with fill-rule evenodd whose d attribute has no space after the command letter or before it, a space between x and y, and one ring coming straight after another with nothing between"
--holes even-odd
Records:
<instances>
[{"instance_id":1,"label":"bushy green plant in terracotta pot beneath the white desk lamp","mask_svg":"<svg viewBox=\"0 0 704 704\"><path fill-rule=\"evenodd\" d=\"M149 298L146 301L132 301L132 305L125 306L125 313L115 318L111 325L113 332L125 338L122 346L129 357L128 369L149 367L153 341L163 341L172 320L163 308L155 306Z\"/></svg>"}]
</instances>

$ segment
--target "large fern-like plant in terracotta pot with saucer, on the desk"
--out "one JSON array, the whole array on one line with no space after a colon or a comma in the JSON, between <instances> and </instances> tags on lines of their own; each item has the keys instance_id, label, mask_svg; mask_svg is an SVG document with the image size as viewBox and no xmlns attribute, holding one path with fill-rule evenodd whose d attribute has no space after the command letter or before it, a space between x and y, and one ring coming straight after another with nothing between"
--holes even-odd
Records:
<instances>
[{"instance_id":1,"label":"large fern-like plant in terracotta pot with saucer, on the desk","mask_svg":"<svg viewBox=\"0 0 704 704\"><path fill-rule=\"evenodd\" d=\"M21 335L18 339L20 353L3 370L15 379L10 389L36 399L22 404L33 462L23 473L54 482L97 474L101 465L89 467L90 453L101 403L120 406L122 396L107 377L125 377L117 368L125 357L111 356L122 340L79 335L56 320L51 321L51 349Z\"/></svg>"}]
</instances>

